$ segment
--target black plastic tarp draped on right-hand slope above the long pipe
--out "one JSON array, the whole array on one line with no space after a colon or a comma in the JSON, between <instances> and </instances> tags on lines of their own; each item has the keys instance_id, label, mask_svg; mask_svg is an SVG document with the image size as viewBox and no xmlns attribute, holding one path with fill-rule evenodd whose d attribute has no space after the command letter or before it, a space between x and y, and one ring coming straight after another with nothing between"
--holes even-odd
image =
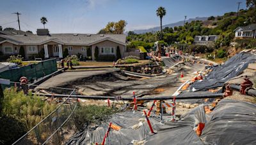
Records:
<instances>
[{"instance_id":1,"label":"black plastic tarp draped on right-hand slope above the long pipe","mask_svg":"<svg viewBox=\"0 0 256 145\"><path fill-rule=\"evenodd\" d=\"M196 81L190 86L192 90L207 90L223 86L228 79L241 74L248 67L248 64L256 62L256 55L252 53L241 52L231 57L225 64L212 67L212 71L205 76L203 81ZM195 89L193 89L195 88Z\"/></svg>"}]
</instances>

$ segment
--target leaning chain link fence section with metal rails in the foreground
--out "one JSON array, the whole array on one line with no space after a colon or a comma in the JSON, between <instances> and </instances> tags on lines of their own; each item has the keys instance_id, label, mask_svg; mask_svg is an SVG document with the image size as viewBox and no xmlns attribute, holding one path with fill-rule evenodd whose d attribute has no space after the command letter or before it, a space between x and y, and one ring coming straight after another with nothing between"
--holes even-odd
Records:
<instances>
[{"instance_id":1,"label":"leaning chain link fence section with metal rails in the foreground","mask_svg":"<svg viewBox=\"0 0 256 145\"><path fill-rule=\"evenodd\" d=\"M70 92L70 95L77 95L76 89ZM71 99L70 95L44 120L13 144L65 144L72 130L76 130L73 113L78 102L76 99Z\"/></svg>"}]
</instances>

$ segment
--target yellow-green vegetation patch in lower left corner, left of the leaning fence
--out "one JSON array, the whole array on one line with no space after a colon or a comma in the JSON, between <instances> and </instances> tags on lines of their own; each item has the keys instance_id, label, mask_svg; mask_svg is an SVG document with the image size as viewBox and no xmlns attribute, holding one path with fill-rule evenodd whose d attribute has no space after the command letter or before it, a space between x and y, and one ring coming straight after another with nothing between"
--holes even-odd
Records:
<instances>
[{"instance_id":1,"label":"yellow-green vegetation patch in lower left corner, left of the leaning fence","mask_svg":"<svg viewBox=\"0 0 256 145\"><path fill-rule=\"evenodd\" d=\"M56 109L56 104L49 104L31 92L17 92L16 88L6 88L1 102L0 144L13 143Z\"/></svg>"}]
</instances>

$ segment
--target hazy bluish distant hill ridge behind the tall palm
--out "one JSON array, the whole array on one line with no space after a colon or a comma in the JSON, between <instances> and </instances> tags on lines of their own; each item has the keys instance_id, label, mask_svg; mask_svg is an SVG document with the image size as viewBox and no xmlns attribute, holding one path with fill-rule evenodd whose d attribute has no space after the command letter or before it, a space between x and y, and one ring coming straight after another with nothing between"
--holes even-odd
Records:
<instances>
[{"instance_id":1,"label":"hazy bluish distant hill ridge behind the tall palm","mask_svg":"<svg viewBox=\"0 0 256 145\"><path fill-rule=\"evenodd\" d=\"M188 20L186 20L186 22L191 22L193 20L207 20L208 17L196 17L196 18L189 18ZM163 25L163 29L164 27L175 27L175 26L180 26L184 24L184 20L181 20L179 22L173 23L173 24L167 24L167 25ZM134 30L134 32L136 34L143 34L145 32L156 32L156 31L160 31L160 26L159 27L154 27L154 28L150 28L150 29L141 29L141 30Z\"/></svg>"}]
</instances>

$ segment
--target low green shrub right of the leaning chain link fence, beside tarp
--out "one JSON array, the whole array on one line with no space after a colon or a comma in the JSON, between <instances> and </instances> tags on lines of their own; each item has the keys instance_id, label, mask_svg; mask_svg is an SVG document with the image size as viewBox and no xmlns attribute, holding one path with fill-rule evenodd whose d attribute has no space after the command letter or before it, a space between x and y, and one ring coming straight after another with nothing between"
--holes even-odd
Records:
<instances>
[{"instance_id":1,"label":"low green shrub right of the leaning chain link fence, beside tarp","mask_svg":"<svg viewBox=\"0 0 256 145\"><path fill-rule=\"evenodd\" d=\"M77 123L77 128L80 130L85 125L89 125L90 123L94 123L96 125L102 124L102 122L106 122L109 118L111 118L111 114L116 113L116 109L111 109L111 107L107 106L78 106L75 113L74 119Z\"/></svg>"}]
</instances>

